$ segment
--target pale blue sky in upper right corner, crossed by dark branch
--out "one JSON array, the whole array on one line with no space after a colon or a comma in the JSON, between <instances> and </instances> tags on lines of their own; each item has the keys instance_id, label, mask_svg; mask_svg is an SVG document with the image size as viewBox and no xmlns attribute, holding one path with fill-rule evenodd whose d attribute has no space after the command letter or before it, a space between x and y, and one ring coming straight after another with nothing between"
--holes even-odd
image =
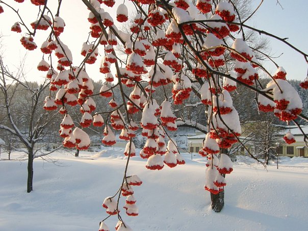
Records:
<instances>
[{"instance_id":1,"label":"pale blue sky in upper right corner, crossed by dark branch","mask_svg":"<svg viewBox=\"0 0 308 231\"><path fill-rule=\"evenodd\" d=\"M253 1L256 7L261 0ZM277 0L265 0L258 13L252 18L250 25L262 29L281 38L289 38L287 41L308 54L308 1L307 0L279 0L283 7L277 5ZM304 80L307 76L308 64L303 56L295 52L285 43L270 39L270 46L278 65L287 71L287 79ZM276 67L266 62L266 67L274 72Z\"/></svg>"}]
</instances>

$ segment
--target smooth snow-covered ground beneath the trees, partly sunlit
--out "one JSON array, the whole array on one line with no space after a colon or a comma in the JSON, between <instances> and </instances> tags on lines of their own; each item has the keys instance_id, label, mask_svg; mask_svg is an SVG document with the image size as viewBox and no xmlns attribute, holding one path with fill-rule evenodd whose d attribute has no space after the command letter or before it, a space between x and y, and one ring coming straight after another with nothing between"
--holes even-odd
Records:
<instances>
[{"instance_id":1,"label":"smooth snow-covered ground beneath the trees, partly sunlit","mask_svg":"<svg viewBox=\"0 0 308 231\"><path fill-rule=\"evenodd\" d=\"M49 156L55 163L36 159L31 193L27 161L0 161L0 230L98 230L107 217L102 201L123 177L122 152L81 152L79 158L58 152ZM226 178L224 209L215 213L203 189L204 159L185 158L186 165L161 171L132 158L128 172L143 181L134 187L139 216L121 214L133 230L308 230L308 159L285 158L278 170L274 162L265 170L239 160ZM111 230L116 222L116 216L106 221Z\"/></svg>"}]
</instances>

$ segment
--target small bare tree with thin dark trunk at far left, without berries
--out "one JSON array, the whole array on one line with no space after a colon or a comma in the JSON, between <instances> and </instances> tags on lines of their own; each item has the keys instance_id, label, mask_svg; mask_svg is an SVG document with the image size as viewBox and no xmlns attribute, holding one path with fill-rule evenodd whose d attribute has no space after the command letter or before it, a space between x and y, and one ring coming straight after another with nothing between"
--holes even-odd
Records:
<instances>
[{"instance_id":1,"label":"small bare tree with thin dark trunk at far left, without berries","mask_svg":"<svg viewBox=\"0 0 308 231\"><path fill-rule=\"evenodd\" d=\"M43 96L49 83L45 81L37 85L23 82L22 65L13 73L5 65L2 55L0 55L0 75L0 107L3 109L0 130L16 137L25 147L25 150L21 150L28 155L27 192L29 193L33 190L33 160L49 154L43 152L42 147L36 144L44 140L47 134L46 128L56 116L56 113L48 113L42 109ZM11 145L9 152L12 148Z\"/></svg>"}]
</instances>

